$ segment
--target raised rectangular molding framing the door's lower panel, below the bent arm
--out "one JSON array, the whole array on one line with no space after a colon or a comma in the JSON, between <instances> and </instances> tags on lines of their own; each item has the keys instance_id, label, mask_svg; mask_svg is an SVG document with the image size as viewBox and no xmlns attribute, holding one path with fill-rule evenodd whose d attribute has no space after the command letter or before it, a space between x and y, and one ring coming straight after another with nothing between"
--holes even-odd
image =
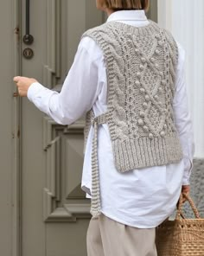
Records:
<instances>
[{"instance_id":1,"label":"raised rectangular molding framing the door's lower panel, below the bent arm","mask_svg":"<svg viewBox=\"0 0 204 256\"><path fill-rule=\"evenodd\" d=\"M61 134L83 135L84 120L79 120L73 125L58 125L52 118L45 117L43 120L43 149L46 151L47 187L43 189L43 219L44 221L77 221L78 218L90 219L90 203L81 196L69 196L66 189L64 199L75 199L77 203L63 203L63 207L58 207L61 202ZM65 179L66 182L66 179ZM76 184L76 186L78 183ZM80 203L78 203L78 201Z\"/></svg>"}]
</instances>

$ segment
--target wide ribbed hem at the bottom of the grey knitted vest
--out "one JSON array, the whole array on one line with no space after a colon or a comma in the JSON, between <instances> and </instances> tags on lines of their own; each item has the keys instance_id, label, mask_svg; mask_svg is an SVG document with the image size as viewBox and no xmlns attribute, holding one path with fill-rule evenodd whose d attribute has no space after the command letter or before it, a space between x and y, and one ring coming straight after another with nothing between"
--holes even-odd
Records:
<instances>
[{"instance_id":1,"label":"wide ribbed hem at the bottom of the grey knitted vest","mask_svg":"<svg viewBox=\"0 0 204 256\"><path fill-rule=\"evenodd\" d=\"M112 145L115 164L120 172L178 163L183 157L182 145L176 132L165 138L116 140Z\"/></svg>"}]
</instances>

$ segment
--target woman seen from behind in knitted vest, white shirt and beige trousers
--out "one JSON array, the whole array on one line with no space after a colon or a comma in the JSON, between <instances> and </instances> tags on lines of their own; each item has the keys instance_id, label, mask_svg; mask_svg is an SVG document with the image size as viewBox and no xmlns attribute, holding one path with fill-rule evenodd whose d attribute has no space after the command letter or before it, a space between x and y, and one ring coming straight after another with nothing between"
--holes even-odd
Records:
<instances>
[{"instance_id":1,"label":"woman seen from behind in knitted vest, white shirt and beige trousers","mask_svg":"<svg viewBox=\"0 0 204 256\"><path fill-rule=\"evenodd\" d=\"M86 115L82 189L92 198L87 251L156 255L155 227L189 192L194 141L184 51L147 20L147 0L97 0L108 20L82 36L61 93L15 77L56 122Z\"/></svg>"}]
</instances>

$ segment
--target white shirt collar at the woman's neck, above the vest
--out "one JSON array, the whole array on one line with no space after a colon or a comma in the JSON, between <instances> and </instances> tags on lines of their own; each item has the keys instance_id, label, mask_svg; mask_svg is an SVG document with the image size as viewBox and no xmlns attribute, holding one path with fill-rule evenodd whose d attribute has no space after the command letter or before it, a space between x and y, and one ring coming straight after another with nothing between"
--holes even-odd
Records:
<instances>
[{"instance_id":1,"label":"white shirt collar at the woman's neck, above the vest","mask_svg":"<svg viewBox=\"0 0 204 256\"><path fill-rule=\"evenodd\" d=\"M147 21L147 16L144 10L118 10L107 19L107 22L116 21Z\"/></svg>"}]
</instances>

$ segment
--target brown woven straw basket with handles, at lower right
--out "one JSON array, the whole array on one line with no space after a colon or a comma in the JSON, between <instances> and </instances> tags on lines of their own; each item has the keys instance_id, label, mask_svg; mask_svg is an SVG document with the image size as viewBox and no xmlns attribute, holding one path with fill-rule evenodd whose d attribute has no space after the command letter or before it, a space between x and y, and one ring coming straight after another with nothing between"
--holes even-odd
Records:
<instances>
[{"instance_id":1,"label":"brown woven straw basket with handles, at lower right","mask_svg":"<svg viewBox=\"0 0 204 256\"><path fill-rule=\"evenodd\" d=\"M183 197L190 203L195 219L183 217ZM156 249L158 256L204 256L204 219L188 195L180 196L175 221L164 221L156 227Z\"/></svg>"}]
</instances>

